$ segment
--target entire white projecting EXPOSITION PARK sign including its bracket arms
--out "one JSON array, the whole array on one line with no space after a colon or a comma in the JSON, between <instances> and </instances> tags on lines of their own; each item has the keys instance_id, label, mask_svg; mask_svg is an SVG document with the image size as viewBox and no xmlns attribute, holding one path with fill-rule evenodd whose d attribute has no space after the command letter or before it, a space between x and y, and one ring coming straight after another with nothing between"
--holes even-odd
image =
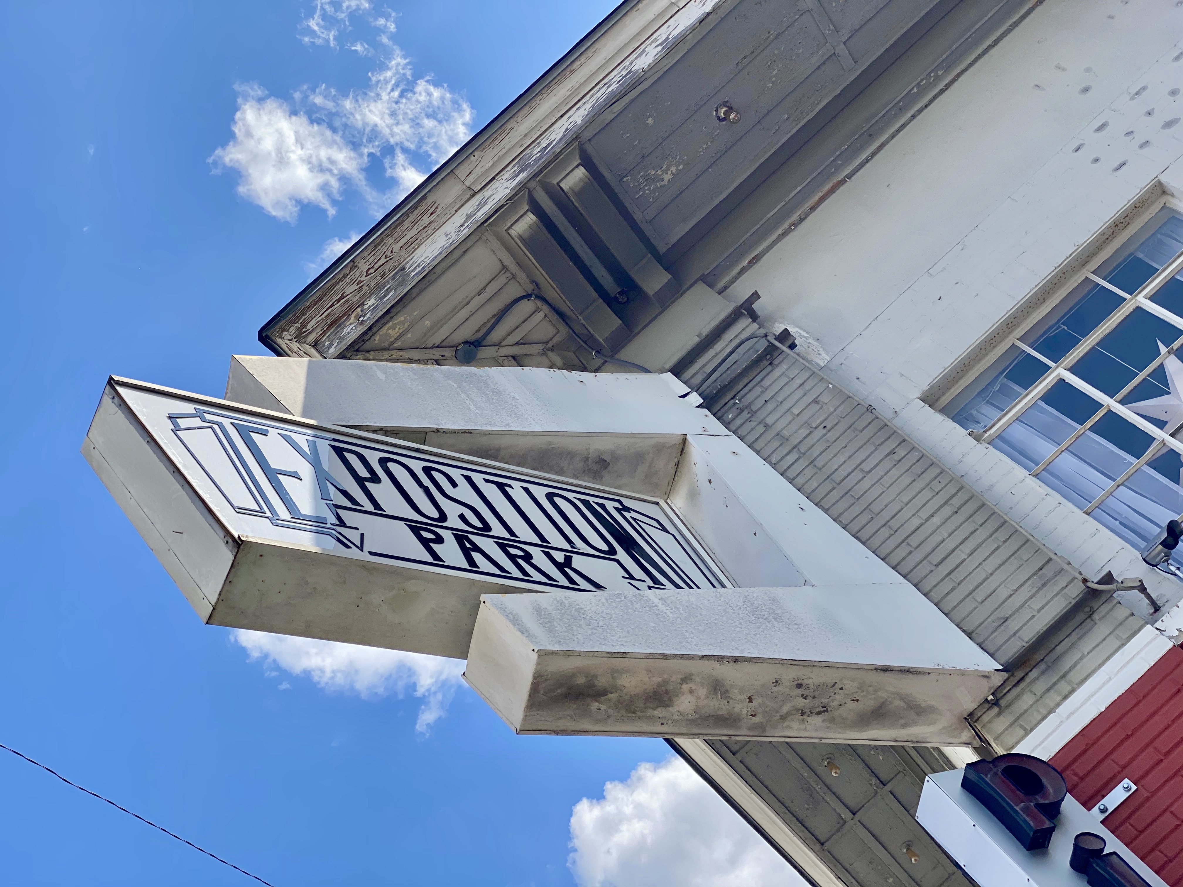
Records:
<instances>
[{"instance_id":1,"label":"entire white projecting EXPOSITION PARK sign including its bracket arms","mask_svg":"<svg viewBox=\"0 0 1183 887\"><path fill-rule=\"evenodd\" d=\"M692 395L241 357L83 452L205 622L466 659L518 732L975 742L997 662Z\"/></svg>"}]
</instances>

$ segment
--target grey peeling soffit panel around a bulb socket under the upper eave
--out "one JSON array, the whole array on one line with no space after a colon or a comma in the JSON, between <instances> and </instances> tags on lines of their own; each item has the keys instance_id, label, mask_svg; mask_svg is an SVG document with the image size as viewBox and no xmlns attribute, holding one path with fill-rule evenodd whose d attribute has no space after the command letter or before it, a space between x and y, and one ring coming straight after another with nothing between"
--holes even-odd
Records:
<instances>
[{"instance_id":1,"label":"grey peeling soffit panel around a bulb socket under the upper eave","mask_svg":"<svg viewBox=\"0 0 1183 887\"><path fill-rule=\"evenodd\" d=\"M592 136L593 150L665 251L932 6L736 4ZM737 122L717 118L724 102Z\"/></svg>"}]
</instances>

